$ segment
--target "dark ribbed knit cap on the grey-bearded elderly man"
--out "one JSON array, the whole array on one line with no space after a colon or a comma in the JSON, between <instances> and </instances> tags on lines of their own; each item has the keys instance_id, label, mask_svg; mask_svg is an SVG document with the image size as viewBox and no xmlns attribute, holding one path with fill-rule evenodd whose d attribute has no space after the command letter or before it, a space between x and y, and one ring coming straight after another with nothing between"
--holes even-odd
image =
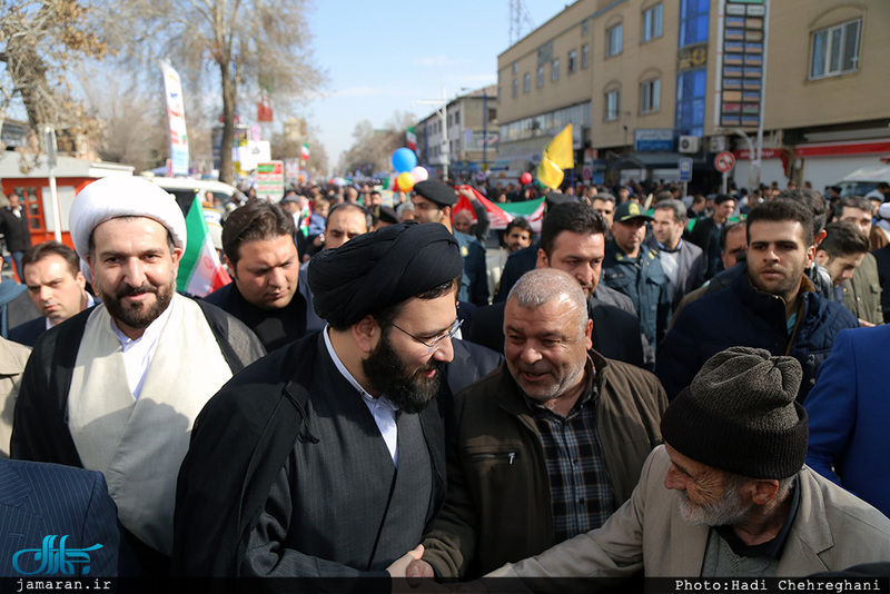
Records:
<instances>
[{"instance_id":1,"label":"dark ribbed knit cap on the grey-bearded elderly man","mask_svg":"<svg viewBox=\"0 0 890 594\"><path fill-rule=\"evenodd\" d=\"M793 357L731 347L718 353L664 412L665 443L686 457L751 478L787 478L807 457L803 373Z\"/></svg>"}]
</instances>

